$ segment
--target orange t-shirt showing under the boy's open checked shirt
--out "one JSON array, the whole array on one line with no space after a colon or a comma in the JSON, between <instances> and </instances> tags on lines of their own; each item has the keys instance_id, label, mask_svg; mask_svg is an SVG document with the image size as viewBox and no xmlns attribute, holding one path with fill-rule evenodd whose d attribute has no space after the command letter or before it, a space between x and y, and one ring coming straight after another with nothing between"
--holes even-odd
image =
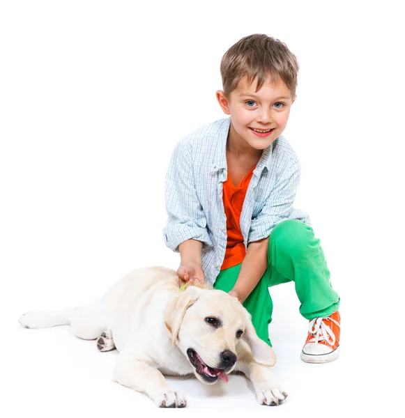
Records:
<instances>
[{"instance_id":1,"label":"orange t-shirt showing under the boy's open checked shirt","mask_svg":"<svg viewBox=\"0 0 405 418\"><path fill-rule=\"evenodd\" d=\"M249 173L246 174L245 178L243 178L237 187L231 183L229 175L227 181L224 182L224 209L225 215L227 215L228 239L221 270L234 267L234 265L242 263L243 258L245 258L246 250L239 222L247 186L250 183L255 168L256 167L253 167Z\"/></svg>"}]
</instances>

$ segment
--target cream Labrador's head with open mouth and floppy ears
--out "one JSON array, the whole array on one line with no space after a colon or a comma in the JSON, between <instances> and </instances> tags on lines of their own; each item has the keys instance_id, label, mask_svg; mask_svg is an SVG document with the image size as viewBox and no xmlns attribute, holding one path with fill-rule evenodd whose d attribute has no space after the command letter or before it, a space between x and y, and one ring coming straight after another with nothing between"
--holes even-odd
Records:
<instances>
[{"instance_id":1,"label":"cream Labrador's head with open mouth and floppy ears","mask_svg":"<svg viewBox=\"0 0 405 418\"><path fill-rule=\"evenodd\" d=\"M275 364L275 354L257 336L250 314L236 297L223 291L190 286L179 292L167 308L165 324L173 345L188 357L203 383L213 384L218 377L228 381L241 340L257 363Z\"/></svg>"}]
</instances>

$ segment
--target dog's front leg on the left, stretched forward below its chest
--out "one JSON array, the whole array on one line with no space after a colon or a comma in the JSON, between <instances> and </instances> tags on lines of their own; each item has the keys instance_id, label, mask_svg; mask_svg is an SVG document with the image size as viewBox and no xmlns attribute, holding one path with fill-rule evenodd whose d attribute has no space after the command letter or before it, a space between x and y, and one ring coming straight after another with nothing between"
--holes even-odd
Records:
<instances>
[{"instance_id":1,"label":"dog's front leg on the left, stretched forward below its chest","mask_svg":"<svg viewBox=\"0 0 405 418\"><path fill-rule=\"evenodd\" d=\"M113 379L149 396L160 408L184 408L185 396L171 387L162 373L135 355L120 353Z\"/></svg>"}]
</instances>

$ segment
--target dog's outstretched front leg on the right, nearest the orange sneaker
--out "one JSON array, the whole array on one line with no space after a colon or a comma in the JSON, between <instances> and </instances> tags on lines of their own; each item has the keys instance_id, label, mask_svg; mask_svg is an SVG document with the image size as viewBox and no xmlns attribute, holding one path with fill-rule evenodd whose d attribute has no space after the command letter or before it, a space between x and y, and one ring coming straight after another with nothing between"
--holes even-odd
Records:
<instances>
[{"instance_id":1,"label":"dog's outstretched front leg on the right, nearest the orange sneaker","mask_svg":"<svg viewBox=\"0 0 405 418\"><path fill-rule=\"evenodd\" d=\"M270 367L257 364L250 350L243 348L238 352L235 371L245 373L252 382L257 401L261 405L280 405L288 394L273 380Z\"/></svg>"}]
</instances>

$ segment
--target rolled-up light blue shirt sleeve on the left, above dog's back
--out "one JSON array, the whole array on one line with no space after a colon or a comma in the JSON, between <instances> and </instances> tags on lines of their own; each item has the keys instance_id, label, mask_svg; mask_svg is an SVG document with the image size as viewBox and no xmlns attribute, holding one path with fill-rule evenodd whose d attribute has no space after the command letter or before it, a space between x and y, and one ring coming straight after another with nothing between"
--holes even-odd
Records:
<instances>
[{"instance_id":1,"label":"rolled-up light blue shirt sleeve on the left, above dog's back","mask_svg":"<svg viewBox=\"0 0 405 418\"><path fill-rule=\"evenodd\" d=\"M190 239L212 246L195 188L192 155L184 141L177 144L171 156L165 199L168 219L163 238L167 247L178 252L178 245Z\"/></svg>"}]
</instances>

